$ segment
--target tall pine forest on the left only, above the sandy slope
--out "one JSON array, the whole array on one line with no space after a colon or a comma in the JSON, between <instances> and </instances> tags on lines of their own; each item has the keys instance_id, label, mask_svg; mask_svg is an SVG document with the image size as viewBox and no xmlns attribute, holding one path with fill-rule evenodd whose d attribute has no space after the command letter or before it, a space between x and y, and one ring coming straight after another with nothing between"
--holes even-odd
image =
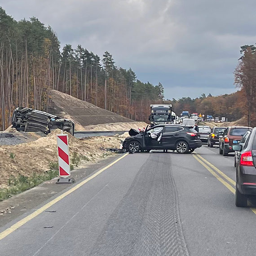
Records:
<instances>
[{"instance_id":1,"label":"tall pine forest on the left only, above the sandy slope","mask_svg":"<svg viewBox=\"0 0 256 256\"><path fill-rule=\"evenodd\" d=\"M142 83L109 52L101 58L70 44L61 51L50 26L35 17L16 21L0 8L0 130L18 106L47 111L49 89L134 120L146 121L150 103L163 101L162 84Z\"/></svg>"}]
</instances>

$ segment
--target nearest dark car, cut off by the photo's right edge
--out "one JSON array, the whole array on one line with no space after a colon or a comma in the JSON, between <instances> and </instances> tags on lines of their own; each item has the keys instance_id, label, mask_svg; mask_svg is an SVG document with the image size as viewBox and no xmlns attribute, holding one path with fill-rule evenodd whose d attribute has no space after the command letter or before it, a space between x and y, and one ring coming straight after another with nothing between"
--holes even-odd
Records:
<instances>
[{"instance_id":1,"label":"nearest dark car, cut off by the photo's right edge","mask_svg":"<svg viewBox=\"0 0 256 256\"><path fill-rule=\"evenodd\" d=\"M244 146L234 144L234 151L240 152L236 164L235 204L247 206L247 197L256 196L256 128L248 135Z\"/></svg>"}]
</instances>

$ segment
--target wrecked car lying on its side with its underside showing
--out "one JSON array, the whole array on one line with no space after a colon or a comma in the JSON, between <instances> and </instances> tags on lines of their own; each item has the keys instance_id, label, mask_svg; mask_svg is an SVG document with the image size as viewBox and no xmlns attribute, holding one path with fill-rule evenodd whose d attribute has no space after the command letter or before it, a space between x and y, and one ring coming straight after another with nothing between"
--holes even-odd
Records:
<instances>
[{"instance_id":1,"label":"wrecked car lying on its side with its underside showing","mask_svg":"<svg viewBox=\"0 0 256 256\"><path fill-rule=\"evenodd\" d=\"M44 111L18 107L13 112L12 125L18 132L44 132L61 129L74 135L75 124L69 119L51 115Z\"/></svg>"}]
</instances>

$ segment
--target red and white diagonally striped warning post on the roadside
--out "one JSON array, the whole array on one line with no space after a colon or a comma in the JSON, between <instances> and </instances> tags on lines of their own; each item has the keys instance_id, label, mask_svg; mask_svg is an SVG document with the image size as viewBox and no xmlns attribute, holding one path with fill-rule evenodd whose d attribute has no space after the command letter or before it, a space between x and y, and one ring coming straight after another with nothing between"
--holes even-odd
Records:
<instances>
[{"instance_id":1,"label":"red and white diagonally striped warning post on the roadside","mask_svg":"<svg viewBox=\"0 0 256 256\"><path fill-rule=\"evenodd\" d=\"M67 134L57 135L59 175L62 177L70 176L70 161Z\"/></svg>"}]
</instances>

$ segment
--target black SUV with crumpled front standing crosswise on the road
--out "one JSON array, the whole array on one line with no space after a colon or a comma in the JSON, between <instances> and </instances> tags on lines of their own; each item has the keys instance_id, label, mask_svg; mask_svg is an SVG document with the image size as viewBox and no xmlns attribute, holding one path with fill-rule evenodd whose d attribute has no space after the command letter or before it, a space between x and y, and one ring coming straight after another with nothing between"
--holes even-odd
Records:
<instances>
[{"instance_id":1,"label":"black SUV with crumpled front standing crosswise on the road","mask_svg":"<svg viewBox=\"0 0 256 256\"><path fill-rule=\"evenodd\" d=\"M148 128L148 127L147 127ZM131 129L123 143L123 149L131 153L149 150L177 150L192 153L202 146L199 133L193 128L179 124L160 124L145 132Z\"/></svg>"}]
</instances>

